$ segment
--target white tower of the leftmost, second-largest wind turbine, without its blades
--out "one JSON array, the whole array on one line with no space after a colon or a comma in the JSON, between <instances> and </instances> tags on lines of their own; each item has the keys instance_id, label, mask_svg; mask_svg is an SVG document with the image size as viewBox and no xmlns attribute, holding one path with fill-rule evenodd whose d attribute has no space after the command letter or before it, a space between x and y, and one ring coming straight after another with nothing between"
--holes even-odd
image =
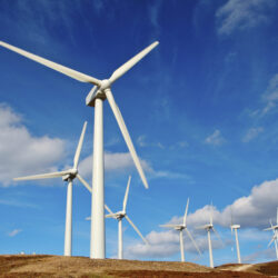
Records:
<instances>
[{"instance_id":1,"label":"white tower of the leftmost, second-largest wind turbine, without its blades","mask_svg":"<svg viewBox=\"0 0 278 278\"><path fill-rule=\"evenodd\" d=\"M71 256L71 234L72 234L72 181L67 189L66 227L64 227L64 256Z\"/></svg>"}]
</instances>

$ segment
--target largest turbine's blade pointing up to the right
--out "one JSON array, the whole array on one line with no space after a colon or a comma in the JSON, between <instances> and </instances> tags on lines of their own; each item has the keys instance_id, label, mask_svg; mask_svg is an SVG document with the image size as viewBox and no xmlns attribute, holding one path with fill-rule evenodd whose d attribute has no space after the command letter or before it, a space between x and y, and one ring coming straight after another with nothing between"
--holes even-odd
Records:
<instances>
[{"instance_id":1,"label":"largest turbine's blade pointing up to the right","mask_svg":"<svg viewBox=\"0 0 278 278\"><path fill-rule=\"evenodd\" d=\"M145 48L141 52L136 54L133 58L123 63L120 68L118 68L112 76L109 78L109 81L113 83L117 79L119 79L122 75L125 75L128 70L130 70L136 63L138 63L146 54L148 54L155 47L158 46L158 41L151 43L149 47Z\"/></svg>"}]
</instances>

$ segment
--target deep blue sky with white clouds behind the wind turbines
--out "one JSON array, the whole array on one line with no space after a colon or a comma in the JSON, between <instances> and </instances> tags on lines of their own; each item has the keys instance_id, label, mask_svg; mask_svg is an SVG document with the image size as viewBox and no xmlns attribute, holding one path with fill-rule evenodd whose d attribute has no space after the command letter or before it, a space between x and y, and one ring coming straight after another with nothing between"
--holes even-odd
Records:
<instances>
[{"instance_id":1,"label":"deep blue sky with white clouds behind the wind turbines","mask_svg":"<svg viewBox=\"0 0 278 278\"><path fill-rule=\"evenodd\" d=\"M126 258L179 260L178 222L190 198L186 259L208 265L212 201L221 245L215 264L236 260L230 208L240 224L245 261L275 259L267 248L278 193L278 36L275 0L8 1L0 0L1 40L98 79L159 40L112 87L150 188L136 172L105 103L106 203L120 209L132 175L128 214L151 242L125 222ZM90 85L0 49L0 252L63 252L66 185L13 182L18 176L70 166L88 120L80 172L91 180ZM89 192L73 188L73 255L89 256ZM207 220L206 220L207 219ZM235 249L235 248L234 248ZM117 256L117 222L107 220L107 257Z\"/></svg>"}]
</instances>

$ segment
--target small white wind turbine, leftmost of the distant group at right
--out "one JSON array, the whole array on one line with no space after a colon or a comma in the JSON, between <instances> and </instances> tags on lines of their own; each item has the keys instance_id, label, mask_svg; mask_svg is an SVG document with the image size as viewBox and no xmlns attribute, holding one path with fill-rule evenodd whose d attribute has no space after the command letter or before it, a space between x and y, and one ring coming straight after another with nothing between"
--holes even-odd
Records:
<instances>
[{"instance_id":1,"label":"small white wind turbine, leftmost of the distant group at right","mask_svg":"<svg viewBox=\"0 0 278 278\"><path fill-rule=\"evenodd\" d=\"M183 230L186 230L188 237L191 239L196 250L200 252L200 249L198 248L197 244L195 242L190 231L187 229L187 212L188 212L188 206L189 206L189 198L187 199L187 207L186 207L186 212L183 216L183 222L176 225L176 224L166 224L166 225L159 225L160 227L167 227L167 228L172 228L175 230L179 231L179 245L180 245L180 260L185 261L185 246L183 246Z\"/></svg>"}]
</instances>

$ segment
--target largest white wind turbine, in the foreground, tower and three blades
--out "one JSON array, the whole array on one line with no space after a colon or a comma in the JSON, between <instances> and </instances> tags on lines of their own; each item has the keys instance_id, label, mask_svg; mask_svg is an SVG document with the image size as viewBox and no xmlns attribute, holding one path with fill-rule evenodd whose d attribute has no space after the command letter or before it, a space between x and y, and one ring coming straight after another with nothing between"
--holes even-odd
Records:
<instances>
[{"instance_id":1,"label":"largest white wind turbine, in the foreground, tower and three blades","mask_svg":"<svg viewBox=\"0 0 278 278\"><path fill-rule=\"evenodd\" d=\"M141 52L136 54L133 58L128 60L121 67L119 67L109 79L99 80L97 78L90 77L88 75L78 72L59 63L49 61L39 56L27 52L17 47L10 46L3 41L0 41L0 46L8 48L19 54L22 54L33 61L37 61L46 67L57 70L68 77L71 77L78 81L95 85L86 98L86 105L95 107L95 130L93 130L93 163L92 163L92 187L93 195L91 201L91 242L90 242L90 258L106 257L106 241L105 241L105 177L103 177L103 100L108 100L112 112L116 117L118 126L128 146L130 155L133 159L136 168L139 176L148 188L148 182L145 177L142 167L140 165L139 158L135 150L133 143L129 136L128 129L121 116L121 112L113 99L111 92L112 83L118 80L122 75L130 70L137 62L139 62L146 54L148 54L155 47L158 46L158 41L151 43L149 47L143 49Z\"/></svg>"}]
</instances>

